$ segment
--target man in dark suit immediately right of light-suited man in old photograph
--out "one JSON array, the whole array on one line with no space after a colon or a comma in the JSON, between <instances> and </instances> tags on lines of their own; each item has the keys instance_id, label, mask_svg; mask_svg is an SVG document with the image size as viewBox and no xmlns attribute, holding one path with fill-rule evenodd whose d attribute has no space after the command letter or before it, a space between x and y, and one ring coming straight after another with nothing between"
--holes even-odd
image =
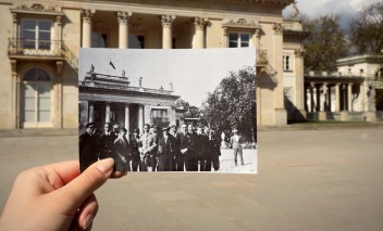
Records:
<instances>
[{"instance_id":1,"label":"man in dark suit immediately right of light-suited man in old photograph","mask_svg":"<svg viewBox=\"0 0 383 231\"><path fill-rule=\"evenodd\" d=\"M173 164L173 144L172 138L169 134L169 127L162 128L162 136L158 140L157 155L158 155L158 170L171 171Z\"/></svg>"}]
</instances>

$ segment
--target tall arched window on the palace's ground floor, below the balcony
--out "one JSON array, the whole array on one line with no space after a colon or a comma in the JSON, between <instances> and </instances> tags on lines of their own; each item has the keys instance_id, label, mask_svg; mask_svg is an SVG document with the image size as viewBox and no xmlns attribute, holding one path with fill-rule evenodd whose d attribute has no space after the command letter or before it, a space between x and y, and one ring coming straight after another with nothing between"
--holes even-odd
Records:
<instances>
[{"instance_id":1,"label":"tall arched window on the palace's ground floor, below the balcony","mask_svg":"<svg viewBox=\"0 0 383 231\"><path fill-rule=\"evenodd\" d=\"M23 127L50 127L51 80L41 68L28 69L23 76L21 123Z\"/></svg>"}]
</instances>

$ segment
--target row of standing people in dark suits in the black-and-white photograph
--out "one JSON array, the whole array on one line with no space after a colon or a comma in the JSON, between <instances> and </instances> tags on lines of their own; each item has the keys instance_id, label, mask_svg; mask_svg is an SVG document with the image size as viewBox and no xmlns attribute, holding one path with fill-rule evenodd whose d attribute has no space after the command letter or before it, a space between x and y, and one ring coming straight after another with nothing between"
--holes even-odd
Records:
<instances>
[{"instance_id":1,"label":"row of standing people in dark suits in the black-and-white photograph","mask_svg":"<svg viewBox=\"0 0 383 231\"><path fill-rule=\"evenodd\" d=\"M175 125L144 131L106 123L101 133L95 123L79 136L81 171L92 163L112 157L115 171L212 171L220 169L221 138L208 126ZM242 155L240 155L242 156ZM243 158L242 158L243 163Z\"/></svg>"}]
</instances>

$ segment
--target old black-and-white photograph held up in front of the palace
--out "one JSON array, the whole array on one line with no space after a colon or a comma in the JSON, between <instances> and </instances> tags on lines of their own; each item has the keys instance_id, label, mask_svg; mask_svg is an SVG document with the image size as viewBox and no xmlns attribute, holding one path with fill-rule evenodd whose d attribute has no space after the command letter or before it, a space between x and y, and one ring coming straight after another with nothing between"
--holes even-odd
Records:
<instances>
[{"instance_id":1,"label":"old black-and-white photograph held up in front of the palace","mask_svg":"<svg viewBox=\"0 0 383 231\"><path fill-rule=\"evenodd\" d=\"M256 51L81 49L81 171L257 174Z\"/></svg>"}]
</instances>

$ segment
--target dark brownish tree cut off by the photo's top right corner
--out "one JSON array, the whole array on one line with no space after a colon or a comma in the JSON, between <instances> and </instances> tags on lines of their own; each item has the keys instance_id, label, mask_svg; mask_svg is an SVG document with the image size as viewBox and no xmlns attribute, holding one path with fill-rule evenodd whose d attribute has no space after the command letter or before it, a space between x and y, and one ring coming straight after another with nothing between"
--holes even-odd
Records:
<instances>
[{"instance_id":1,"label":"dark brownish tree cut off by the photo's top right corner","mask_svg":"<svg viewBox=\"0 0 383 231\"><path fill-rule=\"evenodd\" d=\"M383 50L383 2L365 8L349 25L350 41L359 54L382 53Z\"/></svg>"}]
</instances>

